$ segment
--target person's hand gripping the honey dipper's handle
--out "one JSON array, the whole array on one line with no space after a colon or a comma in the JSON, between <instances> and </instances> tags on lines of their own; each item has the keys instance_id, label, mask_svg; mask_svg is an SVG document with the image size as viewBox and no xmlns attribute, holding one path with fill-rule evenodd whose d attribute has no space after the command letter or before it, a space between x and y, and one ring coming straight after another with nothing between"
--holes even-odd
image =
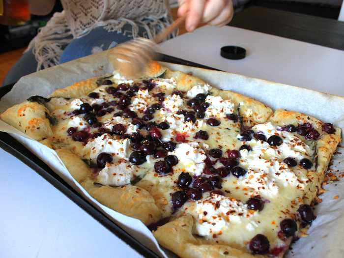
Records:
<instances>
[{"instance_id":1,"label":"person's hand gripping the honey dipper's handle","mask_svg":"<svg viewBox=\"0 0 344 258\"><path fill-rule=\"evenodd\" d=\"M179 0L178 16L183 15L189 32L200 23L221 27L232 19L233 4L231 0Z\"/></svg>"}]
</instances>

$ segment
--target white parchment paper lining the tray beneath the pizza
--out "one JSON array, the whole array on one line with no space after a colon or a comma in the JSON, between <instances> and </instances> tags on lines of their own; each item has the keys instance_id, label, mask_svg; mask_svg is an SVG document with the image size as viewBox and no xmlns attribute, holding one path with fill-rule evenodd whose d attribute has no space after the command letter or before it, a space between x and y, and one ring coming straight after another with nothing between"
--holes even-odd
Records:
<instances>
[{"instance_id":1,"label":"white parchment paper lining the tray beneath the pizza","mask_svg":"<svg viewBox=\"0 0 344 258\"><path fill-rule=\"evenodd\" d=\"M105 51L80 58L21 78L13 89L1 99L0 112L14 104L25 101L32 95L48 96L57 88L70 86L75 82L112 72L113 68L107 62L106 54ZM226 72L209 71L170 63L163 63L163 65L173 70L192 72L212 86L253 97L273 109L295 110L344 128L344 98L342 97ZM24 144L86 200L145 246L161 257L175 257L171 252L164 252L159 247L152 233L141 221L122 215L94 200L73 179L54 150L37 143L1 120L0 131L10 133L11 136ZM343 142L341 144L344 145ZM339 148L338 152L339 154L334 156L331 166L336 175L344 172L344 154L341 154L344 153L344 148ZM338 172L336 172L337 170ZM316 207L317 219L308 230L310 235L293 244L292 251L288 252L287 257L344 257L344 245L342 243L342 236L344 235L344 180L328 184L325 189L328 191L320 196L323 201ZM335 200L334 197L337 195L339 199Z\"/></svg>"}]
</instances>

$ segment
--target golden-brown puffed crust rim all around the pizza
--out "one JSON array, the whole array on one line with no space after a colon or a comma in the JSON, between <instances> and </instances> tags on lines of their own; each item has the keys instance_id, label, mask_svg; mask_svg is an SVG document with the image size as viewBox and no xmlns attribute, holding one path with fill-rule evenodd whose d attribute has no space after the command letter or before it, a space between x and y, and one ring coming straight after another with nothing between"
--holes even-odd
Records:
<instances>
[{"instance_id":1,"label":"golden-brown puffed crust rim all around the pizza","mask_svg":"<svg viewBox=\"0 0 344 258\"><path fill-rule=\"evenodd\" d=\"M147 71L143 74L143 77L147 78L158 76L162 76L163 78L173 77L177 82L177 88L183 91L187 91L195 85L204 86L206 84L197 77L183 72L171 71L156 62L151 63ZM57 89L51 96L64 98L85 96L98 87L97 80L99 80L99 78L91 78L66 88ZM212 95L219 95L223 99L229 99L236 105L245 126L253 126L266 121L281 126L310 122L318 132L322 132L321 125L323 123L314 117L285 110L277 110L273 114L271 108L252 98L232 91L220 90L215 87L210 88ZM41 141L41 143L51 147L52 144L50 140L46 139L53 136L47 114L49 115L49 111L43 105L35 102L24 102L9 108L0 115L0 118L28 134L33 139ZM327 170L330 159L338 143L340 143L340 140L340 128L336 128L335 134L321 134L320 138L317 140L316 172L312 184L308 185L309 190L305 191L308 194L304 197L304 203L311 203L316 197L321 187L324 173ZM126 185L122 187L95 185L91 169L87 167L85 162L78 155L65 148L57 149L56 151L76 181L100 203L117 212L137 218L145 225L155 223L163 217L161 205L158 203L158 200L161 200L161 198L156 198L156 200L154 200L152 193L143 189L144 185L143 187L135 185ZM148 188L149 187L147 187L147 189ZM162 246L172 250L183 258L265 257L260 255L253 256L249 254L247 250L239 250L228 245L209 244L201 237L192 234L193 227L193 217L190 215L183 215L159 227L153 234Z\"/></svg>"}]
</instances>

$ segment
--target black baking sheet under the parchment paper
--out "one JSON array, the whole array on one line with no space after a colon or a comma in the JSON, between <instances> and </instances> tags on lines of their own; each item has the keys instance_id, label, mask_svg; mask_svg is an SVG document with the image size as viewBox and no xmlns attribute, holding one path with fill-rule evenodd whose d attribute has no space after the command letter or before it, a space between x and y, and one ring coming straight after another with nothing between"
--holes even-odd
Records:
<instances>
[{"instance_id":1,"label":"black baking sheet under the parchment paper","mask_svg":"<svg viewBox=\"0 0 344 258\"><path fill-rule=\"evenodd\" d=\"M191 61L187 61L184 59L180 59L180 58L172 57L168 55L161 55L160 60L164 62L171 62L171 63L200 67L204 69L217 70L212 67L208 67L205 65L201 65L198 63L194 63ZM7 92L9 92L12 87L13 87L13 84L0 87L0 98L4 96ZM15 156L16 158L24 162L31 169L36 171L39 175L41 175L44 179L46 179L49 183L51 183L54 187L56 187L60 192L62 192L65 196L67 196L70 200L78 204L94 219L99 221L103 226L105 226L107 229L113 232L117 237L119 237L124 242L129 244L138 253L140 253L144 257L159 258L159 256L156 253L154 253L147 247L143 246L143 244L141 244L137 239L135 239L126 231L121 229L112 220L110 220L103 213L97 210L92 204L86 201L85 198L83 198L77 191L75 191L72 187L70 187L62 178L60 178L54 171L52 171L43 161L37 158L24 145L19 143L9 134L0 132L0 147L4 149L6 152L10 153L11 155Z\"/></svg>"}]
</instances>

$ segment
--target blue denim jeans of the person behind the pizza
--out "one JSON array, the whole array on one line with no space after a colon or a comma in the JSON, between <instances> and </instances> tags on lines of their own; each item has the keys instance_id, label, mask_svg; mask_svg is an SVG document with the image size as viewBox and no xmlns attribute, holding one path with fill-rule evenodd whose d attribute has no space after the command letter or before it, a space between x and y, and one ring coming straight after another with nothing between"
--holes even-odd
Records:
<instances>
[{"instance_id":1,"label":"blue denim jeans of the person behind the pizza","mask_svg":"<svg viewBox=\"0 0 344 258\"><path fill-rule=\"evenodd\" d=\"M127 24L122 31L131 31L131 25ZM144 29L139 30L139 36L144 35ZM72 40L63 50L59 62L64 63L70 60L85 57L97 52L115 47L117 44L132 39L130 34L108 32L103 27L91 30L87 35ZM3 81L3 85L17 82L22 76L35 72L37 61L32 54L32 50L24 55L14 64Z\"/></svg>"}]
</instances>

